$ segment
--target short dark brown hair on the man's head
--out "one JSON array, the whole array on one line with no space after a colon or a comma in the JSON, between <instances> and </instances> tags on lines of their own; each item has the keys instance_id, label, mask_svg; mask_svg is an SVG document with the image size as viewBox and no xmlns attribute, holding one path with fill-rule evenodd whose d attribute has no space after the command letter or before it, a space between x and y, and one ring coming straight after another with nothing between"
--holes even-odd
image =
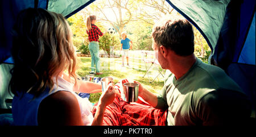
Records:
<instances>
[{"instance_id":1,"label":"short dark brown hair on the man's head","mask_svg":"<svg viewBox=\"0 0 256 137\"><path fill-rule=\"evenodd\" d=\"M180 16L169 16L155 24L152 38L160 46L171 49L177 55L188 56L194 52L193 27L187 19Z\"/></svg>"}]
</instances>

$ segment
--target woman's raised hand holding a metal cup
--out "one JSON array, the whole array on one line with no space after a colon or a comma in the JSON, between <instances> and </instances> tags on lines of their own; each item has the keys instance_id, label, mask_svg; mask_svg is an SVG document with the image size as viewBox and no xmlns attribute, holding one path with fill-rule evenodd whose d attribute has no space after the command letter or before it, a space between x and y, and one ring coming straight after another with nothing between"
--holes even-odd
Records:
<instances>
[{"instance_id":1,"label":"woman's raised hand holding a metal cup","mask_svg":"<svg viewBox=\"0 0 256 137\"><path fill-rule=\"evenodd\" d=\"M101 94L99 105L106 107L114 101L115 97L121 97L121 95L119 92L115 92L113 84L110 83L107 90Z\"/></svg>"}]
</instances>

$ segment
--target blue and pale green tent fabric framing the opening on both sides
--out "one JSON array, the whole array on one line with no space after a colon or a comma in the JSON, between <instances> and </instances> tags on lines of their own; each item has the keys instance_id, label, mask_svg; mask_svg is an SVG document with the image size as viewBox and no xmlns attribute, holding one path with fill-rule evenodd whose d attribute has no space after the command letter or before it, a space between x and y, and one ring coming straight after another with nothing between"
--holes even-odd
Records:
<instances>
[{"instance_id":1,"label":"blue and pale green tent fabric framing the opening on both sides","mask_svg":"<svg viewBox=\"0 0 256 137\"><path fill-rule=\"evenodd\" d=\"M11 113L8 85L13 68L11 29L20 10L40 7L69 18L94 0L10 0L1 1L0 11L0 109ZM167 2L201 32L212 50L209 64L217 65L241 86L249 97L255 118L255 1Z\"/></svg>"}]
</instances>

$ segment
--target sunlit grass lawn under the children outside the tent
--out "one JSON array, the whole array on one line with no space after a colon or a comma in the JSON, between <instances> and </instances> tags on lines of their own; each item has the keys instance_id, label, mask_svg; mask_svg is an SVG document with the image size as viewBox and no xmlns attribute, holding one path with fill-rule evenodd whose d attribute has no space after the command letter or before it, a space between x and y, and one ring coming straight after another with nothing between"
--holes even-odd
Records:
<instances>
[{"instance_id":1,"label":"sunlit grass lawn under the children outside the tent","mask_svg":"<svg viewBox=\"0 0 256 137\"><path fill-rule=\"evenodd\" d=\"M77 74L79 76L84 77L86 74L90 72L90 57L78 57L79 69L77 69ZM114 78L114 83L117 83L122 78L127 78L128 80L136 80L139 81L144 88L150 90L152 93L159 93L164 85L164 78L160 75L155 79L154 82L150 83L147 75L143 78L143 75L146 73L145 64L142 60L130 57L129 64L130 67L122 67L122 58L106 58L101 57L101 72L104 74L97 75L96 77L106 77L111 76ZM125 64L126 59L125 59ZM149 67L150 64L147 64ZM158 70L156 68L150 69L151 80L158 74ZM90 94L89 101L92 103L98 102L101 93L93 93Z\"/></svg>"}]
</instances>

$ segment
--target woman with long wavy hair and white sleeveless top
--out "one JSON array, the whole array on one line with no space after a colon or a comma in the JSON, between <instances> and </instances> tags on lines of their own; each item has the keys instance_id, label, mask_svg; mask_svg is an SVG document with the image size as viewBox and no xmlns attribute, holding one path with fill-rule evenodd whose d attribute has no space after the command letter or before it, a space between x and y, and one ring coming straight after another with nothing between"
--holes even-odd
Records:
<instances>
[{"instance_id":1,"label":"woman with long wavy hair and white sleeveless top","mask_svg":"<svg viewBox=\"0 0 256 137\"><path fill-rule=\"evenodd\" d=\"M77 80L72 33L65 18L44 9L26 9L19 13L13 34L14 124L101 125L106 106L119 94L109 85L93 118L91 103L73 92L84 87Z\"/></svg>"}]
</instances>

